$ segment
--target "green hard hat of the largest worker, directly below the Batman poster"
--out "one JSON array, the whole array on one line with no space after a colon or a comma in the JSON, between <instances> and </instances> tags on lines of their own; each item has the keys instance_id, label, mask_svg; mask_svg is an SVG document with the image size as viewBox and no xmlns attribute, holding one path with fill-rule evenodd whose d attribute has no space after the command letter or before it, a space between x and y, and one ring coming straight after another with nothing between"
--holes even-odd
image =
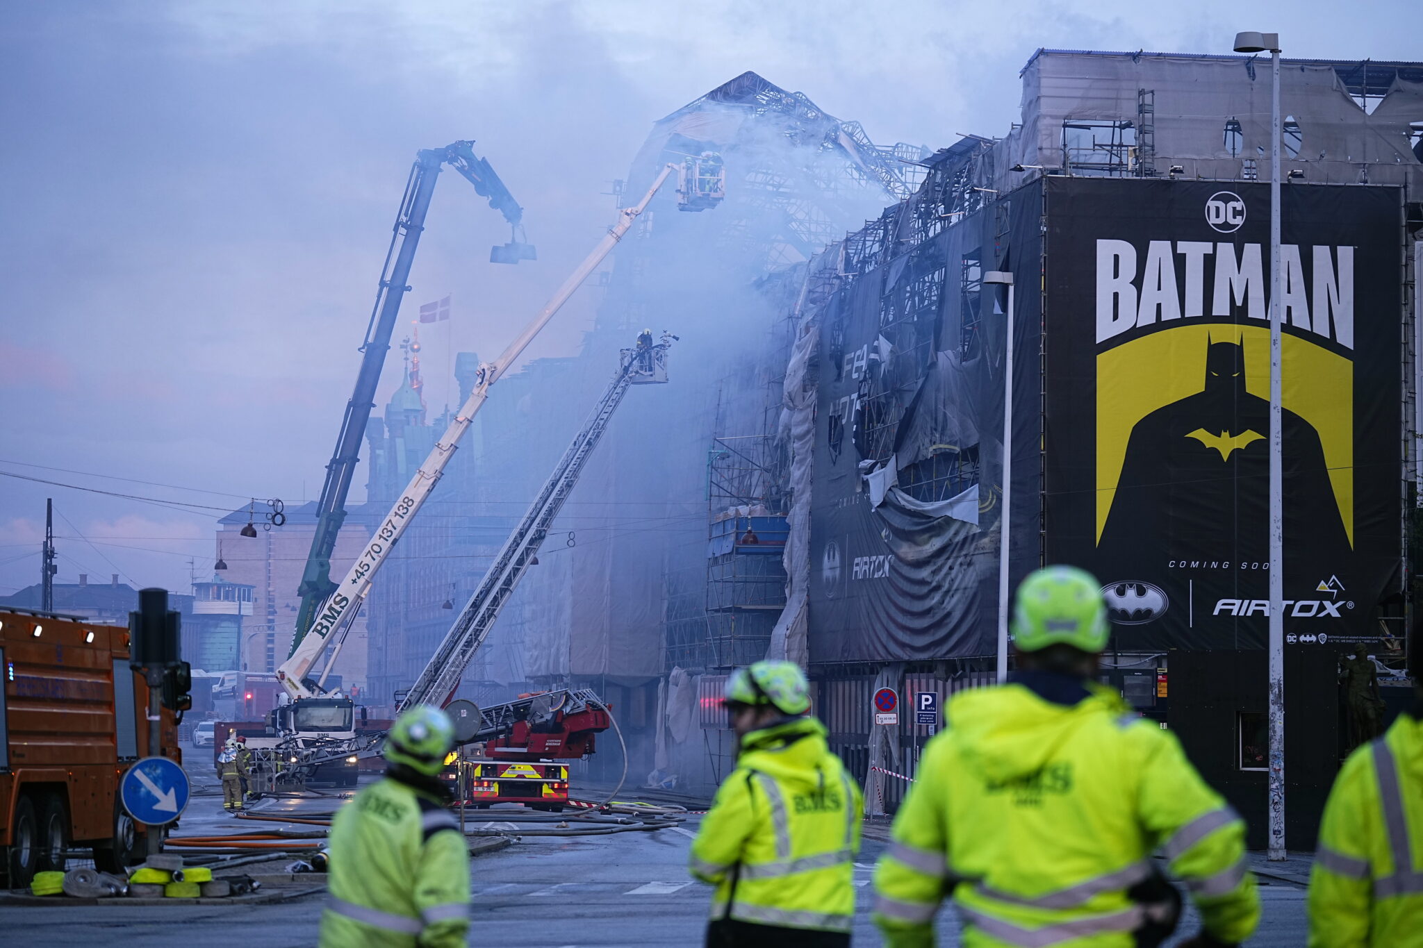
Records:
<instances>
[{"instance_id":1,"label":"green hard hat of the largest worker, directly below the Batman poster","mask_svg":"<svg viewBox=\"0 0 1423 948\"><path fill-rule=\"evenodd\" d=\"M1013 642L1036 652L1049 645L1072 645L1084 652L1107 647L1107 607L1101 587L1086 570L1047 566L1027 574L1013 605Z\"/></svg>"}]
</instances>

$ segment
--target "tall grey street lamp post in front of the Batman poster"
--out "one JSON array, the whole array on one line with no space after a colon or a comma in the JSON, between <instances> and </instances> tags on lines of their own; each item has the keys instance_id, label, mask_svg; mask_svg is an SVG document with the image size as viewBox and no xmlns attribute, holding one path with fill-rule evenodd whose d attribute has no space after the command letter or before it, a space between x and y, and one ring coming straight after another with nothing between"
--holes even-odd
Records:
<instances>
[{"instance_id":1,"label":"tall grey street lamp post in front of the Batman poster","mask_svg":"<svg viewBox=\"0 0 1423 948\"><path fill-rule=\"evenodd\" d=\"M1269 853L1285 858L1285 516L1281 428L1279 34L1237 33L1237 53L1269 50Z\"/></svg>"}]
</instances>

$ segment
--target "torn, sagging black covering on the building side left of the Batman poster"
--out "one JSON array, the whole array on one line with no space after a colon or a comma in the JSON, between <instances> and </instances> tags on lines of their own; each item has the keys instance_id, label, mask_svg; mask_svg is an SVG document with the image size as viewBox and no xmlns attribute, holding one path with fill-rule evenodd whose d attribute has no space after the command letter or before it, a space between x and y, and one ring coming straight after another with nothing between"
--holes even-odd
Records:
<instances>
[{"instance_id":1,"label":"torn, sagging black covering on the building side left of the Batman poster","mask_svg":"<svg viewBox=\"0 0 1423 948\"><path fill-rule=\"evenodd\" d=\"M914 213L877 222L872 259L847 253L859 271L821 323L814 662L993 651L1007 298L992 270L1016 283L1013 574L1039 560L1040 185L905 250Z\"/></svg>"}]
</instances>

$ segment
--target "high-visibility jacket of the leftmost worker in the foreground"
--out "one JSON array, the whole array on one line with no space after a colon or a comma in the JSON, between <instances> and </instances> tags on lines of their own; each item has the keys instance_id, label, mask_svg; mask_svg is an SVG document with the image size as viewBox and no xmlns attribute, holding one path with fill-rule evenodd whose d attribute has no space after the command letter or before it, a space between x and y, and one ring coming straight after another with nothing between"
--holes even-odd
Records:
<instances>
[{"instance_id":1,"label":"high-visibility jacket of the leftmost worker in the foreground","mask_svg":"<svg viewBox=\"0 0 1423 948\"><path fill-rule=\"evenodd\" d=\"M322 948L462 948L470 851L434 792L387 776L332 822Z\"/></svg>"}]
</instances>

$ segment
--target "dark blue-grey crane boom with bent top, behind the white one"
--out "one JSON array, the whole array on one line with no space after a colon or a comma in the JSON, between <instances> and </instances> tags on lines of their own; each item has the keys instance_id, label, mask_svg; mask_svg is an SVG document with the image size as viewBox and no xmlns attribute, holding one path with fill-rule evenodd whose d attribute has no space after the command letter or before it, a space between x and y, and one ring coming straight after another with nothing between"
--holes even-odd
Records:
<instances>
[{"instance_id":1,"label":"dark blue-grey crane boom with bent top, behind the white one","mask_svg":"<svg viewBox=\"0 0 1423 948\"><path fill-rule=\"evenodd\" d=\"M524 210L514 200L508 188L494 173L487 161L478 158L470 148L474 142L458 141L444 148L428 148L416 153L416 163L410 169L410 179L406 182L406 193L400 199L400 212L396 215L396 225L391 229L390 247L386 250L386 264L381 267L380 283L376 286L376 306L370 313L370 323L366 325L366 340L360 347L361 364L356 374L356 389L350 401L346 402L346 415L342 418L342 429L336 438L336 451L330 463L326 465L326 482L322 485L322 496L316 506L316 532L312 536L312 550L306 557L306 569L302 571L302 584L297 593L302 605L296 614L296 634L292 638L292 652L300 647L306 630L312 627L317 607L337 588L332 584L332 551L336 549L336 536L346 522L346 495L360 460L361 438L366 436L366 422L370 419L370 409L376 406L376 387L380 384L380 370L386 364L386 352L390 350L390 334L396 328L396 317L400 314L400 303L410 290L410 266L416 259L416 247L420 246L420 235L425 227L425 212L430 209L430 196L435 189L435 179L440 169L450 165L458 171L474 189L490 199L490 206L497 209L511 227L518 229L524 219ZM522 253L511 253L511 247L524 249ZM525 244L505 244L495 247L490 256L491 262L517 263L519 259L532 259L532 250Z\"/></svg>"}]
</instances>

